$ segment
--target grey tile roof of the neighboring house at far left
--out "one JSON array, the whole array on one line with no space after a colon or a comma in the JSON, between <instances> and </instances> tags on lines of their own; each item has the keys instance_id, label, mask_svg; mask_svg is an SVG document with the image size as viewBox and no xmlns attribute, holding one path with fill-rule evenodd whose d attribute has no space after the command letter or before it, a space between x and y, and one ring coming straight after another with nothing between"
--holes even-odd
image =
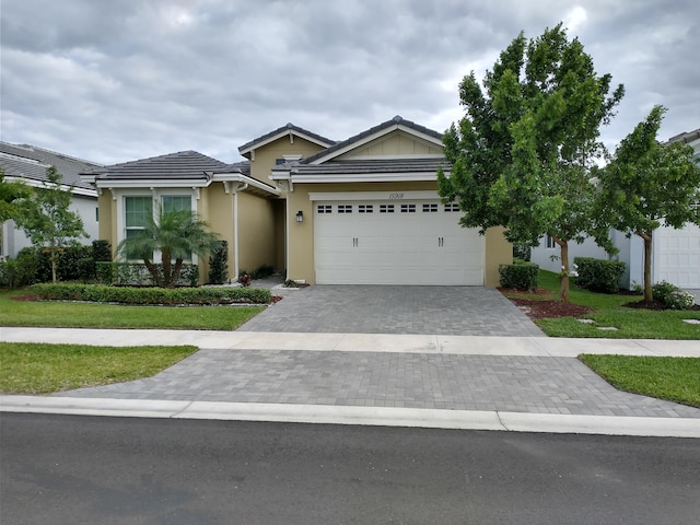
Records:
<instances>
[{"instance_id":1,"label":"grey tile roof of the neighboring house at far left","mask_svg":"<svg viewBox=\"0 0 700 525\"><path fill-rule=\"evenodd\" d=\"M36 145L11 144L0 142L0 166L5 175L33 180L46 180L46 168L56 166L63 176L63 183L77 188L93 190L90 184L81 180L79 174L102 164L75 159Z\"/></svg>"}]
</instances>

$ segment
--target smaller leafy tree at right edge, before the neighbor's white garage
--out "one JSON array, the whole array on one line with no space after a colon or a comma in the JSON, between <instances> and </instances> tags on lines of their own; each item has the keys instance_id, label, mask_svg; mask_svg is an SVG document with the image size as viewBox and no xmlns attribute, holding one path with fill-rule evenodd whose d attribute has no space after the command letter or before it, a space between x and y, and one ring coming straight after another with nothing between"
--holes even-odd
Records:
<instances>
[{"instance_id":1,"label":"smaller leafy tree at right edge, before the neighbor's white garage","mask_svg":"<svg viewBox=\"0 0 700 525\"><path fill-rule=\"evenodd\" d=\"M700 224L700 166L682 142L656 140L666 109L655 106L618 145L599 172L599 209L605 223L644 242L644 301L652 301L651 259L661 226Z\"/></svg>"}]
</instances>

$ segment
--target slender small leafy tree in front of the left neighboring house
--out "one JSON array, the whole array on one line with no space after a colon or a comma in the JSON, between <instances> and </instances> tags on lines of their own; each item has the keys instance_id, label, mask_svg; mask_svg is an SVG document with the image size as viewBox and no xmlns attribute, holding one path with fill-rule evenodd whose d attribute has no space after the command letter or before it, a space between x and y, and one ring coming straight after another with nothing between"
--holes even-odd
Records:
<instances>
[{"instance_id":1,"label":"slender small leafy tree in front of the left neighboring house","mask_svg":"<svg viewBox=\"0 0 700 525\"><path fill-rule=\"evenodd\" d=\"M59 250L65 246L79 245L79 237L89 237L80 215L71 211L71 189L61 189L63 176L56 166L46 168L43 188L24 199L15 222L30 237L32 244L49 250L51 280L56 282Z\"/></svg>"}]
</instances>

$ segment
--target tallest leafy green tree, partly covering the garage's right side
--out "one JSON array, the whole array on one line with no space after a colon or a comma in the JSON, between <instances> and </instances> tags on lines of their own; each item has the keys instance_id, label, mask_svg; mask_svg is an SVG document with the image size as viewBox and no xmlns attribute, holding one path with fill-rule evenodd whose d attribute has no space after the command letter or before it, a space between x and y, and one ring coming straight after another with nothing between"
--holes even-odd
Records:
<instances>
[{"instance_id":1,"label":"tallest leafy green tree, partly covering the garage's right side","mask_svg":"<svg viewBox=\"0 0 700 525\"><path fill-rule=\"evenodd\" d=\"M599 128L623 95L598 75L561 24L538 38L521 33L479 83L459 84L466 115L444 135L451 174L440 195L456 201L462 225L504 226L509 241L535 246L548 234L560 247L561 299L569 300L569 242L594 228L591 168L605 154Z\"/></svg>"}]
</instances>

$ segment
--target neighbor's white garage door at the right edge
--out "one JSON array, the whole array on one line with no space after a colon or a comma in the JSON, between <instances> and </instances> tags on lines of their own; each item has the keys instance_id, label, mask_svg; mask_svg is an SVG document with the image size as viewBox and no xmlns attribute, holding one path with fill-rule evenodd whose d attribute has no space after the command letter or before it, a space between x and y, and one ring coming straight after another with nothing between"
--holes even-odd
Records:
<instances>
[{"instance_id":1,"label":"neighbor's white garage door at the right edge","mask_svg":"<svg viewBox=\"0 0 700 525\"><path fill-rule=\"evenodd\" d=\"M689 224L680 230L656 230L654 280L680 288L700 288L700 228Z\"/></svg>"}]
</instances>

